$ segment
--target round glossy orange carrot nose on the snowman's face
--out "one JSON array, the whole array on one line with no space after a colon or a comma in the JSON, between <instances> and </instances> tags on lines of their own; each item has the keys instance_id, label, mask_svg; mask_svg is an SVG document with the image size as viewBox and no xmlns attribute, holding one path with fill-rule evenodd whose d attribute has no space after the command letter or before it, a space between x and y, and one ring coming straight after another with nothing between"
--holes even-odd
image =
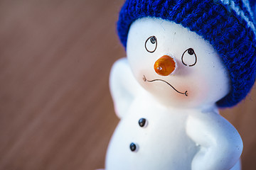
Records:
<instances>
[{"instance_id":1,"label":"round glossy orange carrot nose on the snowman's face","mask_svg":"<svg viewBox=\"0 0 256 170\"><path fill-rule=\"evenodd\" d=\"M168 76L174 72L175 67L176 62L174 62L174 59L168 55L159 58L154 64L155 72L161 76Z\"/></svg>"}]
</instances>

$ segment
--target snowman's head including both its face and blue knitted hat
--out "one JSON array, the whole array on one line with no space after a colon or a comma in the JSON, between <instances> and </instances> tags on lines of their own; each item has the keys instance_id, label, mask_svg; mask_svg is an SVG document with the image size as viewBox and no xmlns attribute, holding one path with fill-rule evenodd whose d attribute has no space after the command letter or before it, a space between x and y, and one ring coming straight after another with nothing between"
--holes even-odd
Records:
<instances>
[{"instance_id":1,"label":"snowman's head including both its face and blue knitted hat","mask_svg":"<svg viewBox=\"0 0 256 170\"><path fill-rule=\"evenodd\" d=\"M238 1L125 1L117 30L137 81L168 106L239 103L256 77L256 3Z\"/></svg>"}]
</instances>

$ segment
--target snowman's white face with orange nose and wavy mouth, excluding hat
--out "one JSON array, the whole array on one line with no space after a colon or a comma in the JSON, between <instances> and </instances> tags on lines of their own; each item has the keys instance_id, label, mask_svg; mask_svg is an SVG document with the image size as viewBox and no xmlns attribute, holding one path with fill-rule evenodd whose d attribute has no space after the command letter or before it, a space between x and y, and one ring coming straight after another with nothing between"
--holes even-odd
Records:
<instances>
[{"instance_id":1,"label":"snowman's white face with orange nose and wavy mouth, excluding hat","mask_svg":"<svg viewBox=\"0 0 256 170\"><path fill-rule=\"evenodd\" d=\"M134 77L166 106L214 105L229 91L228 72L196 33L161 18L140 18L127 38Z\"/></svg>"}]
</instances>

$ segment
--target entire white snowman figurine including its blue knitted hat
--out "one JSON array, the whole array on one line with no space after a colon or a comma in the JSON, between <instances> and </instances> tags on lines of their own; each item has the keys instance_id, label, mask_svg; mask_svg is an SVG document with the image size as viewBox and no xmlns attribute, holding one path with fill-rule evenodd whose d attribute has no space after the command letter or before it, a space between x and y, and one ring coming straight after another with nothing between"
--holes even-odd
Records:
<instances>
[{"instance_id":1,"label":"entire white snowman figurine including its blue knitted hat","mask_svg":"<svg viewBox=\"0 0 256 170\"><path fill-rule=\"evenodd\" d=\"M120 122L107 170L240 169L241 137L218 108L254 84L252 9L246 0L124 3L117 30L127 58L110 73Z\"/></svg>"}]
</instances>

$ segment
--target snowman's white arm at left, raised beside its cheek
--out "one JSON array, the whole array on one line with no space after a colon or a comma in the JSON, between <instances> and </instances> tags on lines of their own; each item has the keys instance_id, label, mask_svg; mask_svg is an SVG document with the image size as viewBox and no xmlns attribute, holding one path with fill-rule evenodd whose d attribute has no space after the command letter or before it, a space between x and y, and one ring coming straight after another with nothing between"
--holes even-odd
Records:
<instances>
[{"instance_id":1,"label":"snowman's white arm at left, raised beside its cheek","mask_svg":"<svg viewBox=\"0 0 256 170\"><path fill-rule=\"evenodd\" d=\"M127 58L114 62L110 72L110 93L114 102L114 111L122 118L134 100L140 85L132 74Z\"/></svg>"}]
</instances>

